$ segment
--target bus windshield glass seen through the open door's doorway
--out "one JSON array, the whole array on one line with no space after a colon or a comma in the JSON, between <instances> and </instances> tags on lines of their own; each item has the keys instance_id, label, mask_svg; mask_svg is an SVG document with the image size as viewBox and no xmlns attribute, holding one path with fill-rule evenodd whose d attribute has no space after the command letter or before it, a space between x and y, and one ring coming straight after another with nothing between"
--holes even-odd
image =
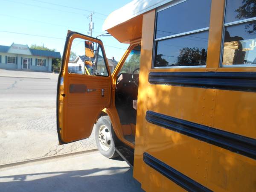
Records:
<instances>
[{"instance_id":1,"label":"bus windshield glass seen through the open door's doorway","mask_svg":"<svg viewBox=\"0 0 256 192\"><path fill-rule=\"evenodd\" d=\"M140 67L140 45L134 47L128 57L126 58L125 63L123 64L119 74L121 73L132 73L135 69ZM136 70L134 73L138 73Z\"/></svg>"}]
</instances>

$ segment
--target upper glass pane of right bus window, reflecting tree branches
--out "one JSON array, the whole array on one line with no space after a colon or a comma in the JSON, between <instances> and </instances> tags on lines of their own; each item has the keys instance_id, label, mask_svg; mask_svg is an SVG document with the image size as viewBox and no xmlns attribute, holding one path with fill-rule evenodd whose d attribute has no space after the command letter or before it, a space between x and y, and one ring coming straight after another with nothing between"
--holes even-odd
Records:
<instances>
[{"instance_id":1,"label":"upper glass pane of right bus window, reflecting tree branches","mask_svg":"<svg viewBox=\"0 0 256 192\"><path fill-rule=\"evenodd\" d=\"M227 0L225 23L256 17L255 0Z\"/></svg>"}]
</instances>

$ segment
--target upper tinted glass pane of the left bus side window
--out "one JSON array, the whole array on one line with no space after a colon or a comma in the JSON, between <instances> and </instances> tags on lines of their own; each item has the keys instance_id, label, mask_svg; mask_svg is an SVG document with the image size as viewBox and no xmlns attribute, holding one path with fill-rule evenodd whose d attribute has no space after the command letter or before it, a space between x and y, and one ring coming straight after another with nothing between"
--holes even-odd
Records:
<instances>
[{"instance_id":1,"label":"upper tinted glass pane of the left bus side window","mask_svg":"<svg viewBox=\"0 0 256 192\"><path fill-rule=\"evenodd\" d=\"M157 13L156 38L209 27L211 0L187 0Z\"/></svg>"}]
</instances>

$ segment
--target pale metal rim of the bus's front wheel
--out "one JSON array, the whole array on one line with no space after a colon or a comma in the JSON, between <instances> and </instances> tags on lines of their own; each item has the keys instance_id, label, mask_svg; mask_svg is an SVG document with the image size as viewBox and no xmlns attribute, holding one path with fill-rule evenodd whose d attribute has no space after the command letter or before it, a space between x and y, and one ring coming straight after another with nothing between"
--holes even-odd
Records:
<instances>
[{"instance_id":1,"label":"pale metal rim of the bus's front wheel","mask_svg":"<svg viewBox=\"0 0 256 192\"><path fill-rule=\"evenodd\" d=\"M110 130L105 125L99 128L99 144L105 151L108 151L111 145Z\"/></svg>"}]
</instances>

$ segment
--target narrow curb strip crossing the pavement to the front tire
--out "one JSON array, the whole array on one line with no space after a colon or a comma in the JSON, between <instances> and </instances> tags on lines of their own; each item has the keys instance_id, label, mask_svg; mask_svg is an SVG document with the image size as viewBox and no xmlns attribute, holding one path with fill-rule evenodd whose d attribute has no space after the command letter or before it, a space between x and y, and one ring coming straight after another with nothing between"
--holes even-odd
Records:
<instances>
[{"instance_id":1,"label":"narrow curb strip crossing the pavement to the front tire","mask_svg":"<svg viewBox=\"0 0 256 192\"><path fill-rule=\"evenodd\" d=\"M91 149L91 150L87 150L87 151L79 151L79 152L74 152L74 153L69 153L69 154L61 154L61 155L50 156L50 157L42 157L42 158L39 157L39 158L29 159L29 160L25 160L25 161L16 162L16 163L3 164L3 165L0 165L0 169L7 168L7 167L19 166L19 165L23 165L23 164L27 164L27 163L35 163L35 162L44 161L44 160L59 159L62 157L76 156L76 155L87 154L87 153L90 154L95 151L98 151L98 149Z\"/></svg>"}]
</instances>

